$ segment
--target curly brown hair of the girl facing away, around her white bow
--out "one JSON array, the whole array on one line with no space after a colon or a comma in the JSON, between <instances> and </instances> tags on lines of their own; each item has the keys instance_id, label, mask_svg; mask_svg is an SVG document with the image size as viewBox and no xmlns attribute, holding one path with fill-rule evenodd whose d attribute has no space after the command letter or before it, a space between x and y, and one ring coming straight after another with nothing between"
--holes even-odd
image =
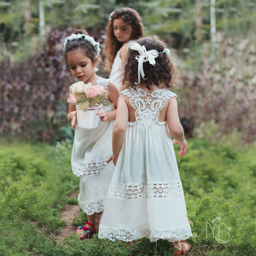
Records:
<instances>
[{"instance_id":1,"label":"curly brown hair of the girl facing away, around her white bow","mask_svg":"<svg viewBox=\"0 0 256 256\"><path fill-rule=\"evenodd\" d=\"M158 37L144 37L136 40L136 42L145 46L146 50L156 49L158 53L166 48L166 44ZM138 51L130 49L123 63L122 84L126 85L127 88L135 88L138 83L138 61L135 59L137 55ZM152 83L167 88L175 86L178 75L171 58L160 53L155 61L155 65L151 65L148 61L143 63L145 78L141 77L141 79L143 83L146 83L146 88L150 90Z\"/></svg>"}]
</instances>

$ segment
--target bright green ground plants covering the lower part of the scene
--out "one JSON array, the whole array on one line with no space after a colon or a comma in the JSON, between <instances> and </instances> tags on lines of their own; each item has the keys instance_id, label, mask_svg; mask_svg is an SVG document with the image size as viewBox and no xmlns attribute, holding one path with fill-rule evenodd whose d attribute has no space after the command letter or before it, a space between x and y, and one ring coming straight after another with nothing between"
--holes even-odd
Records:
<instances>
[{"instance_id":1,"label":"bright green ground plants covering the lower part of the scene","mask_svg":"<svg viewBox=\"0 0 256 256\"><path fill-rule=\"evenodd\" d=\"M235 148L199 139L188 140L188 146L178 165L188 217L194 221L190 255L254 255L255 146ZM125 248L126 244L99 240L97 235L92 241L80 241L73 234L56 243L54 234L65 225L61 209L77 204L69 196L79 190L79 180L71 171L71 150L71 141L56 146L1 141L0 255L172 255L168 242L147 239Z\"/></svg>"}]
</instances>

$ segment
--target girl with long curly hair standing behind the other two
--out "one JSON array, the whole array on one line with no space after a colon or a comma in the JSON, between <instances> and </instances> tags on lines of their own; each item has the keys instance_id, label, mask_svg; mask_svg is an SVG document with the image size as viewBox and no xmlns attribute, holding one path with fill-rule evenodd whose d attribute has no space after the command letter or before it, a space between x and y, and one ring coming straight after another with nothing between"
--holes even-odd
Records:
<instances>
[{"instance_id":1,"label":"girl with long curly hair standing behind the other two","mask_svg":"<svg viewBox=\"0 0 256 256\"><path fill-rule=\"evenodd\" d=\"M110 13L104 41L106 66L110 71L110 81L120 89L122 61L127 54L127 46L143 36L143 24L137 11L122 7Z\"/></svg>"}]
</instances>

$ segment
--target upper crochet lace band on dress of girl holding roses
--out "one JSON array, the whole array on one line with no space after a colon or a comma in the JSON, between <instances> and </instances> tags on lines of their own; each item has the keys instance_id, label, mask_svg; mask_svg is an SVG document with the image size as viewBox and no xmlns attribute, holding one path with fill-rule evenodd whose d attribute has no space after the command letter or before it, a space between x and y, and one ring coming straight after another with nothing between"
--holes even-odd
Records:
<instances>
[{"instance_id":1,"label":"upper crochet lace band on dress of girl holding roses","mask_svg":"<svg viewBox=\"0 0 256 256\"><path fill-rule=\"evenodd\" d=\"M76 167L72 165L72 171L76 177L82 177L84 175L95 175L107 171L107 161L98 163L88 163L83 167Z\"/></svg>"}]
</instances>

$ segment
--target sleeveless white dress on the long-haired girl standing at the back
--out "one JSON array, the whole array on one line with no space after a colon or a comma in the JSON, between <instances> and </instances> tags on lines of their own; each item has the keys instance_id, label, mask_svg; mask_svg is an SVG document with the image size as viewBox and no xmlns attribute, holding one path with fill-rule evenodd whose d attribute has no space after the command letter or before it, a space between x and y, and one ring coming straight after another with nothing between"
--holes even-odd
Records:
<instances>
[{"instance_id":1,"label":"sleeveless white dress on the long-haired girl standing at the back","mask_svg":"<svg viewBox=\"0 0 256 256\"><path fill-rule=\"evenodd\" d=\"M128 46L133 44L134 42L135 42L134 40L131 40L125 45ZM109 77L110 81L114 85L116 85L119 90L121 87L121 73L122 73L122 59L120 56L120 51L121 51L121 48L116 53L114 62L111 67L110 77Z\"/></svg>"}]
</instances>

